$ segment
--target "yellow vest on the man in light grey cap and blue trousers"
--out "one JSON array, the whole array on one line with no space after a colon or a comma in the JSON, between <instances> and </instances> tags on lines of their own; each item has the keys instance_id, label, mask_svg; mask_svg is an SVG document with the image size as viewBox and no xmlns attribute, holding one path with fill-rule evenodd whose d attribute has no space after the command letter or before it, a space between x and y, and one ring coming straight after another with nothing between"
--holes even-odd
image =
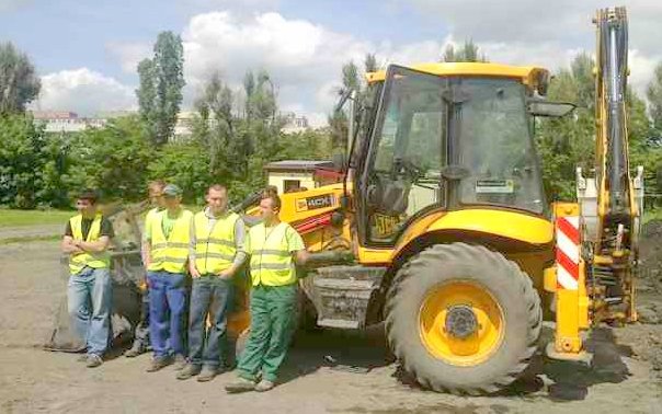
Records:
<instances>
[{"instance_id":1,"label":"yellow vest on the man in light grey cap and blue trousers","mask_svg":"<svg viewBox=\"0 0 662 414\"><path fill-rule=\"evenodd\" d=\"M191 242L191 219L193 212L182 210L175 220L170 237L163 234L163 215L168 210L157 212L151 219L151 263L148 271L166 271L170 273L184 273L189 258L189 243Z\"/></svg>"}]
</instances>

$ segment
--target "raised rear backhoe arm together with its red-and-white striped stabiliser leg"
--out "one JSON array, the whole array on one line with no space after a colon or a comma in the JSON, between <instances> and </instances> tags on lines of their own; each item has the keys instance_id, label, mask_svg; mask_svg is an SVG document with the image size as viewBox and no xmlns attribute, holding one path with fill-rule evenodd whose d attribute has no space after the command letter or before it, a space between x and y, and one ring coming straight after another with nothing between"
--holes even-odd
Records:
<instances>
[{"instance_id":1,"label":"raised rear backhoe arm together with its red-and-white striped stabiliser leg","mask_svg":"<svg viewBox=\"0 0 662 414\"><path fill-rule=\"evenodd\" d=\"M546 281L557 329L548 355L584 359L581 332L637 320L635 283L643 169L630 176L627 118L628 21L625 8L598 10L595 61L595 176L577 171L578 204L555 206L557 263Z\"/></svg>"}]
</instances>

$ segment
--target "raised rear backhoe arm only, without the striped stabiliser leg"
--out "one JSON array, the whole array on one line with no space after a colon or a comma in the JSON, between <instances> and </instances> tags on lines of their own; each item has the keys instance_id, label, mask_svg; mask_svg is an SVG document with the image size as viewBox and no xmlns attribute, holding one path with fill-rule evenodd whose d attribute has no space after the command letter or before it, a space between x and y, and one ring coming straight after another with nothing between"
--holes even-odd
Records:
<instances>
[{"instance_id":1,"label":"raised rear backhoe arm only, without the striped stabiliser leg","mask_svg":"<svg viewBox=\"0 0 662 414\"><path fill-rule=\"evenodd\" d=\"M598 10L595 68L595 234L586 240L592 322L636 320L634 276L640 205L630 177L627 131L628 21L625 8ZM580 198L581 203L581 198ZM582 221L589 219L582 217Z\"/></svg>"}]
</instances>

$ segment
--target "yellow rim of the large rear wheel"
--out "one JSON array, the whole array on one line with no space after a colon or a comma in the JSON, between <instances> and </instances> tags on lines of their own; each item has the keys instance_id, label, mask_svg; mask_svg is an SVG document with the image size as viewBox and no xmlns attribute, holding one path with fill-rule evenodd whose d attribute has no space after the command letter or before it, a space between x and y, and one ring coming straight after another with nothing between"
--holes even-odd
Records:
<instances>
[{"instance_id":1,"label":"yellow rim of the large rear wheel","mask_svg":"<svg viewBox=\"0 0 662 414\"><path fill-rule=\"evenodd\" d=\"M449 325L449 321L457 321L458 314L466 320L471 313L472 329L458 335L453 327L458 324ZM456 366L475 366L487 360L501 346L504 327L503 311L492 295L481 285L466 280L433 287L419 311L421 340L427 350Z\"/></svg>"}]
</instances>

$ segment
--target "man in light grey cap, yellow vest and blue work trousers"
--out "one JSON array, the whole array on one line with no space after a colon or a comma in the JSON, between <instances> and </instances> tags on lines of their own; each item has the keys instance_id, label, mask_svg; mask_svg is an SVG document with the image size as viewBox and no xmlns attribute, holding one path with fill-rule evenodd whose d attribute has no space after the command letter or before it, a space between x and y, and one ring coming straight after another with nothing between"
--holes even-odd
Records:
<instances>
[{"instance_id":1,"label":"man in light grey cap, yellow vest and blue work trousers","mask_svg":"<svg viewBox=\"0 0 662 414\"><path fill-rule=\"evenodd\" d=\"M145 243L149 286L149 338L153 358L148 372L172 363L185 365L184 317L186 311L186 263L193 214L181 206L182 191L174 184L163 188L166 209L151 219Z\"/></svg>"}]
</instances>

